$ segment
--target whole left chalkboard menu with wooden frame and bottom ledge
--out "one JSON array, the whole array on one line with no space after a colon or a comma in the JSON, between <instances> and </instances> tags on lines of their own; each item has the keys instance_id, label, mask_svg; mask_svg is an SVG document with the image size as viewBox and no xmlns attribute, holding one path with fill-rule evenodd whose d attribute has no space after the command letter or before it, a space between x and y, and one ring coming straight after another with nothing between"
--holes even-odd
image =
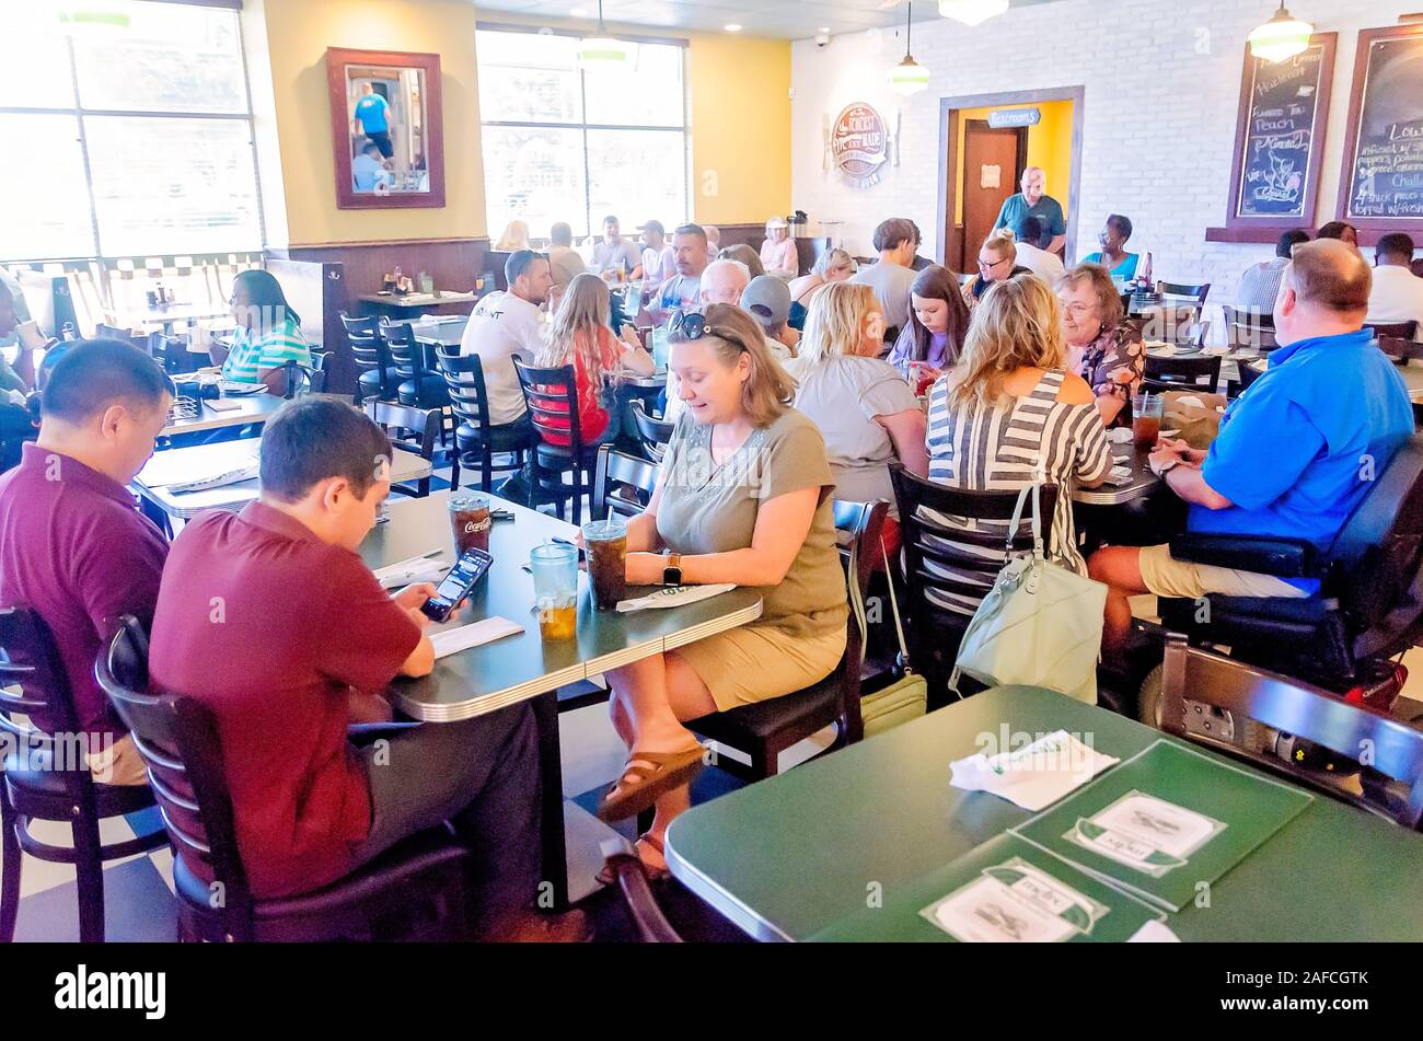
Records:
<instances>
[{"instance_id":1,"label":"whole left chalkboard menu with wooden frame and bottom ledge","mask_svg":"<svg viewBox=\"0 0 1423 1041\"><path fill-rule=\"evenodd\" d=\"M1227 226L1210 229L1211 240L1274 242L1313 225L1336 44L1336 33L1316 33L1278 63L1247 47Z\"/></svg>"}]
</instances>

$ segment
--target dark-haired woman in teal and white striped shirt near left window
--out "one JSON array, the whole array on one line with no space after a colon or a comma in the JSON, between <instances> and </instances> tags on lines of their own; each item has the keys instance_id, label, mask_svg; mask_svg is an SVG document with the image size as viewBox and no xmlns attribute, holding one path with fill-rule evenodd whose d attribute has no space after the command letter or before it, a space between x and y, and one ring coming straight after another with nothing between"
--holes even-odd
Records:
<instances>
[{"instance_id":1,"label":"dark-haired woman in teal and white striped shirt near left window","mask_svg":"<svg viewBox=\"0 0 1423 1041\"><path fill-rule=\"evenodd\" d=\"M238 333L231 348L213 344L209 354L222 365L222 378L265 383L272 394L286 391L283 365L312 364L312 348L302 337L302 317L286 303L270 272L242 272L232 280L232 317Z\"/></svg>"}]
</instances>

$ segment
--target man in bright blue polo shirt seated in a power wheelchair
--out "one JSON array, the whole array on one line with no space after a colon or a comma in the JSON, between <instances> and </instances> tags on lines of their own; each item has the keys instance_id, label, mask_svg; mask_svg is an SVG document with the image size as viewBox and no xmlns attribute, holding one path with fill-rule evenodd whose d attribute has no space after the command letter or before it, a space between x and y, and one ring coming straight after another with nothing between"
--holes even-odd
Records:
<instances>
[{"instance_id":1,"label":"man in bright blue polo shirt seated in a power wheelchair","mask_svg":"<svg viewBox=\"0 0 1423 1041\"><path fill-rule=\"evenodd\" d=\"M1372 274L1358 250L1302 243L1275 299L1279 348L1231 404L1208 452L1163 439L1151 469L1191 503L1191 532L1264 535L1328 549L1393 455L1413 435L1409 393L1363 329ZM1111 546L1093 555L1109 586L1103 648L1131 629L1127 597L1308 596L1315 580L1194 565L1170 546Z\"/></svg>"}]
</instances>

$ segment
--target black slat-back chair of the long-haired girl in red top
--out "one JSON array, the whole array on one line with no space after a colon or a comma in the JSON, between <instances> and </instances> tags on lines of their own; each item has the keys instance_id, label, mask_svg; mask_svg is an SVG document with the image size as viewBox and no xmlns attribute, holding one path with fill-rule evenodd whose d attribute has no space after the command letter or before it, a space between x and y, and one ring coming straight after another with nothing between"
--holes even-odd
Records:
<instances>
[{"instance_id":1,"label":"black slat-back chair of the long-haired girl in red top","mask_svg":"<svg viewBox=\"0 0 1423 1041\"><path fill-rule=\"evenodd\" d=\"M534 491L551 501L559 520L565 503L573 502L573 523L583 522L583 496L593 491L592 471L598 461L598 445L585 445L578 422L578 381L572 365L535 368L514 358L534 422ZM568 441L561 445L549 441ZM568 475L569 484L564 484Z\"/></svg>"}]
</instances>

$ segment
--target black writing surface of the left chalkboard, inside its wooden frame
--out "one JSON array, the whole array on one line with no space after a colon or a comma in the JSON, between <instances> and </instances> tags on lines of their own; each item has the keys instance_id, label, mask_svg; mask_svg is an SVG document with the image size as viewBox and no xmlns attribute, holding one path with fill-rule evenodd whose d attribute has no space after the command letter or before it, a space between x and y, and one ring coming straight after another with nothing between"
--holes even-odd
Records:
<instances>
[{"instance_id":1,"label":"black writing surface of the left chalkboard, inside its wooden frame","mask_svg":"<svg viewBox=\"0 0 1423 1041\"><path fill-rule=\"evenodd\" d=\"M1312 223L1311 188L1319 176L1316 135L1323 135L1321 104L1328 105L1325 44L1272 64L1248 58L1254 70L1239 148L1239 189L1234 216Z\"/></svg>"}]
</instances>

